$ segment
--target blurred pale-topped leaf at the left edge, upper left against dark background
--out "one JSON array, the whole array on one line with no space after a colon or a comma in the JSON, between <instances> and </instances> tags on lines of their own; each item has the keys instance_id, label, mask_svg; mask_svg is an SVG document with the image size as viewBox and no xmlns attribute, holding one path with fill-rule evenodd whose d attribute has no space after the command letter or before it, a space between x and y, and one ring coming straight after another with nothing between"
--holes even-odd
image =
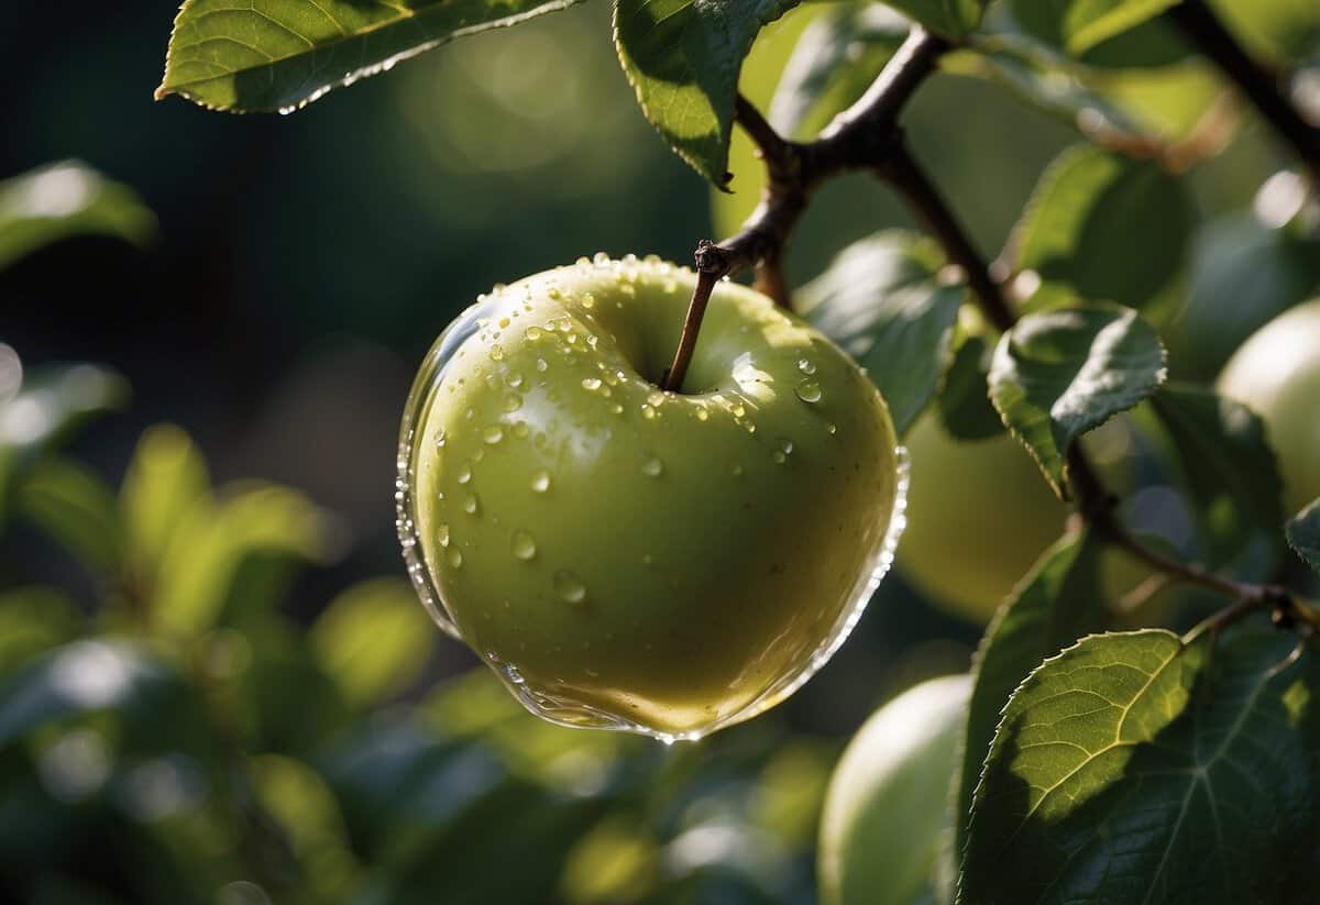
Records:
<instances>
[{"instance_id":1,"label":"blurred pale-topped leaf at the left edge, upper left against dark background","mask_svg":"<svg viewBox=\"0 0 1320 905\"><path fill-rule=\"evenodd\" d=\"M81 161L51 164L0 182L0 270L74 236L111 236L147 245L156 237L156 215L132 189Z\"/></svg>"}]
</instances>

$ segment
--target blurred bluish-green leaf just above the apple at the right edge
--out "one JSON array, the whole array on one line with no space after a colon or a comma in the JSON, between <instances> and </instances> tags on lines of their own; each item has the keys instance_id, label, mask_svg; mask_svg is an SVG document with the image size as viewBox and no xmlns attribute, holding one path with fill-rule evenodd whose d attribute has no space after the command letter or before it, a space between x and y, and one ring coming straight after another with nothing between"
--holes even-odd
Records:
<instances>
[{"instance_id":1,"label":"blurred bluish-green leaf just above the apple at the right edge","mask_svg":"<svg viewBox=\"0 0 1320 905\"><path fill-rule=\"evenodd\" d=\"M1320 288L1320 236L1274 230L1251 214L1212 220L1196 236L1191 282L1170 361L1210 379L1247 336Z\"/></svg>"}]
</instances>

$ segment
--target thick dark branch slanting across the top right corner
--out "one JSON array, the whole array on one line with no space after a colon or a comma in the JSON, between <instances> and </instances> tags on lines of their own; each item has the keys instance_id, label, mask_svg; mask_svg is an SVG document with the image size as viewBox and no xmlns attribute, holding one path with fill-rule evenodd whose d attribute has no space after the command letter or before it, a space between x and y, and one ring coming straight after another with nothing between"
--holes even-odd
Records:
<instances>
[{"instance_id":1,"label":"thick dark branch slanting across the top right corner","mask_svg":"<svg viewBox=\"0 0 1320 905\"><path fill-rule=\"evenodd\" d=\"M1183 0L1167 15L1192 45L1250 99L1320 183L1320 127L1307 123L1288 103L1275 77L1247 54L1204 0Z\"/></svg>"}]
</instances>

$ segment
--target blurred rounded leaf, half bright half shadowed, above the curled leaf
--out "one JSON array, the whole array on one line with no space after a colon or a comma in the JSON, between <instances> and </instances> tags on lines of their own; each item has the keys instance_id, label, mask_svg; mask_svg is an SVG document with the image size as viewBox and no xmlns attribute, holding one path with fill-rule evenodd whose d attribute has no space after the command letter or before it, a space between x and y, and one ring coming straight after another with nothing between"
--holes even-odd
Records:
<instances>
[{"instance_id":1,"label":"blurred rounded leaf, half bright half shadowed, above the curled leaf","mask_svg":"<svg viewBox=\"0 0 1320 905\"><path fill-rule=\"evenodd\" d=\"M1176 286L1195 222L1185 187L1158 164L1072 148L1018 223L1016 263L1090 301L1154 306Z\"/></svg>"}]
</instances>

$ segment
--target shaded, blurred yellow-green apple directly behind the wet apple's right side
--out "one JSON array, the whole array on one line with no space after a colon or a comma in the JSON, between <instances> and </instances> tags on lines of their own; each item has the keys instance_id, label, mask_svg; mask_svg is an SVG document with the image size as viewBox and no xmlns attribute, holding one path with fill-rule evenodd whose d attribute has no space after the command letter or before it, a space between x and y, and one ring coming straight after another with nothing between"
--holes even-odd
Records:
<instances>
[{"instance_id":1,"label":"shaded, blurred yellow-green apple directly behind the wet apple's right side","mask_svg":"<svg viewBox=\"0 0 1320 905\"><path fill-rule=\"evenodd\" d=\"M906 443L912 483L899 573L933 603L989 621L1063 534L1068 508L1007 434L964 443L925 416Z\"/></svg>"}]
</instances>

